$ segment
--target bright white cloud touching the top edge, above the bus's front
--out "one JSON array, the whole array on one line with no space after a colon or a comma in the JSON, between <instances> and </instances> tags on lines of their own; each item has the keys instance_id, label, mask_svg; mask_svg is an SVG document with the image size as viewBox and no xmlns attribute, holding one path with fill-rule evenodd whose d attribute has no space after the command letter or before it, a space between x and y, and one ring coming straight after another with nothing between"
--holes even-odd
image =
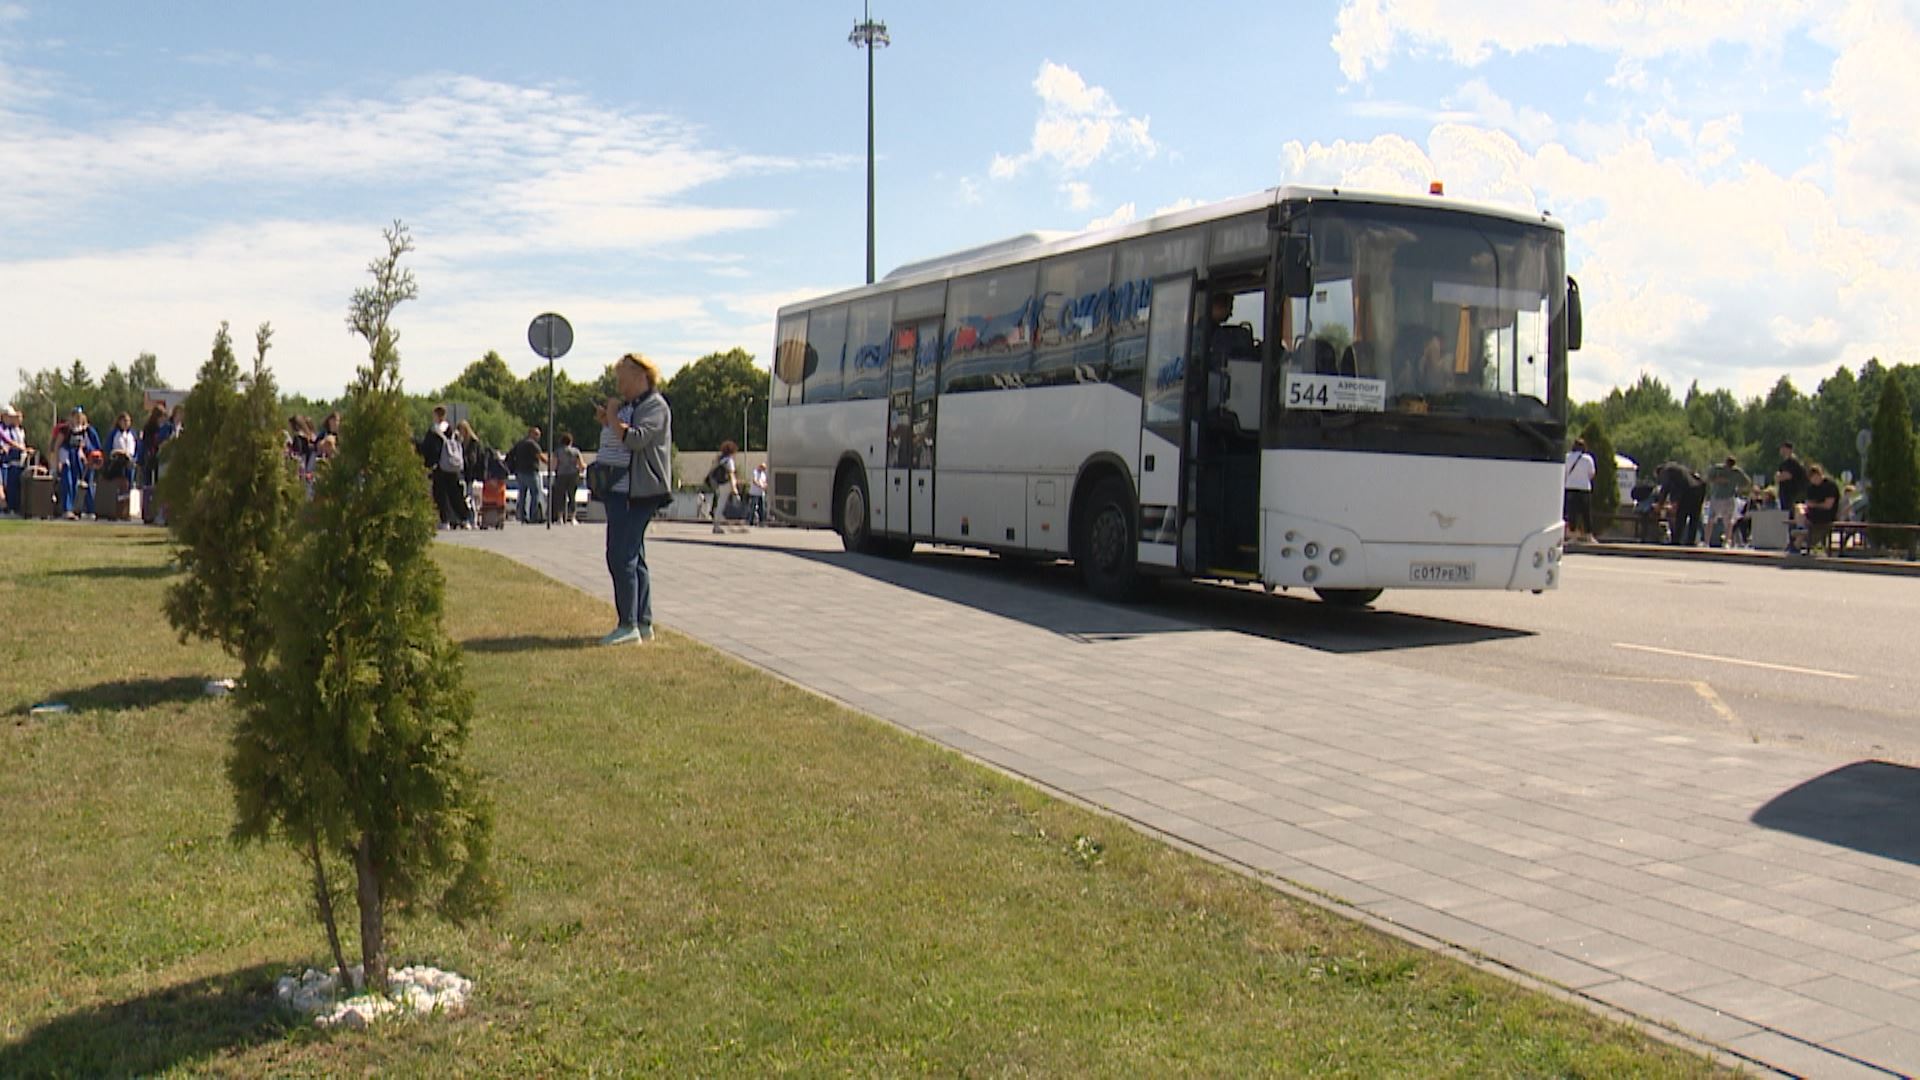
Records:
<instances>
[{"instance_id":1,"label":"bright white cloud touching the top edge, above the bus's front","mask_svg":"<svg viewBox=\"0 0 1920 1080\"><path fill-rule=\"evenodd\" d=\"M1716 44L1774 48L1826 10L1814 0L1344 0L1332 50L1350 83L1386 67L1396 52L1438 52L1478 65L1494 52L1588 46L1644 60ZM1617 69L1634 79L1634 69Z\"/></svg>"}]
</instances>

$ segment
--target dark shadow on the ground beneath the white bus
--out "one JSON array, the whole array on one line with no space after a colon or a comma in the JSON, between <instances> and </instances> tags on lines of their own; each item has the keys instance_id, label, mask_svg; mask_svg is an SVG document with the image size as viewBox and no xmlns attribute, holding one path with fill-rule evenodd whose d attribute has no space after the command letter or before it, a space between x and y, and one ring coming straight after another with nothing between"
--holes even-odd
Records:
<instances>
[{"instance_id":1,"label":"dark shadow on the ground beneath the white bus","mask_svg":"<svg viewBox=\"0 0 1920 1080\"><path fill-rule=\"evenodd\" d=\"M1231 630L1327 653L1377 653L1532 636L1530 630L1334 607L1317 600L1267 596L1258 588L1210 582L1167 580L1142 603L1108 603L1089 596L1068 563L1020 563L927 550L904 561L843 552L787 550L785 553L1085 640Z\"/></svg>"}]
</instances>

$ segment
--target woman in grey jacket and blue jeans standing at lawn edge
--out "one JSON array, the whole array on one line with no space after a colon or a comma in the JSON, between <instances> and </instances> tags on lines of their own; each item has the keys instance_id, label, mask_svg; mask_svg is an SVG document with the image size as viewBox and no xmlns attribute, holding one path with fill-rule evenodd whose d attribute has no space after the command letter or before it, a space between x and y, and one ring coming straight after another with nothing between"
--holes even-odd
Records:
<instances>
[{"instance_id":1,"label":"woman in grey jacket and blue jeans standing at lawn edge","mask_svg":"<svg viewBox=\"0 0 1920 1080\"><path fill-rule=\"evenodd\" d=\"M620 625L603 646L653 640L653 580L647 575L647 525L672 498L668 448L674 413L659 394L660 369L637 352L612 365L620 396L593 407L601 423L595 465L618 479L607 496L607 573L612 575L612 607Z\"/></svg>"}]
</instances>

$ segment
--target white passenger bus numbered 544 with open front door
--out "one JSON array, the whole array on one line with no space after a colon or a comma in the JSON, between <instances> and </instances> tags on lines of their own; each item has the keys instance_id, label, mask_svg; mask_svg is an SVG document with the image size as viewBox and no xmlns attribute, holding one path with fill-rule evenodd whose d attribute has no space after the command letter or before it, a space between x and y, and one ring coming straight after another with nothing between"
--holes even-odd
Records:
<instances>
[{"instance_id":1,"label":"white passenger bus numbered 544 with open front door","mask_svg":"<svg viewBox=\"0 0 1920 1080\"><path fill-rule=\"evenodd\" d=\"M1563 248L1544 213L1286 186L906 265L780 309L772 507L1110 598L1553 588Z\"/></svg>"}]
</instances>

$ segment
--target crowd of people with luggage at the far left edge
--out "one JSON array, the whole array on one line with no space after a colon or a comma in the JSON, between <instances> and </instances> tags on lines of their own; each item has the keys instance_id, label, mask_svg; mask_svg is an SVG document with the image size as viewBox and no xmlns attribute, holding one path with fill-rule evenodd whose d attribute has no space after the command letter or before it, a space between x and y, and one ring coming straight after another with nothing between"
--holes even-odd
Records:
<instances>
[{"instance_id":1,"label":"crowd of people with luggage at the far left edge","mask_svg":"<svg viewBox=\"0 0 1920 1080\"><path fill-rule=\"evenodd\" d=\"M180 423L179 405L171 413L154 405L142 429L134 430L131 413L119 413L113 417L113 427L102 434L86 417L86 409L75 405L48 432L48 455L40 461L38 452L27 444L21 411L0 409L0 511L25 517L27 471L42 465L54 477L58 507L54 511L60 517L94 519L102 509L108 511L106 517L119 517L123 505L131 503L134 484L142 488L144 498L154 498L165 463L163 450L180 432ZM100 505L102 492L111 505Z\"/></svg>"}]
</instances>

